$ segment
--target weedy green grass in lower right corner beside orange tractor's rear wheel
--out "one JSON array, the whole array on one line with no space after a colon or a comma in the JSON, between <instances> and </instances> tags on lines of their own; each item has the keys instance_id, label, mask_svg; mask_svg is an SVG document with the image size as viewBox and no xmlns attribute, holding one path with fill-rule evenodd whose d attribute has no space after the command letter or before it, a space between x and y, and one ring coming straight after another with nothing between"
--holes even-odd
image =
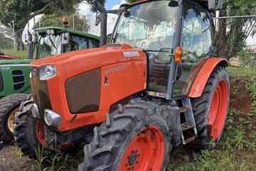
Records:
<instances>
[{"instance_id":1,"label":"weedy green grass in lower right corner beside orange tractor's rear wheel","mask_svg":"<svg viewBox=\"0 0 256 171\"><path fill-rule=\"evenodd\" d=\"M238 72L244 74L247 69ZM178 147L171 155L169 171L256 171L256 75L247 77L247 91L253 101L252 111L247 114L235 110L228 112L220 144L214 150L200 153L191 153L189 147Z\"/></svg>"}]
</instances>

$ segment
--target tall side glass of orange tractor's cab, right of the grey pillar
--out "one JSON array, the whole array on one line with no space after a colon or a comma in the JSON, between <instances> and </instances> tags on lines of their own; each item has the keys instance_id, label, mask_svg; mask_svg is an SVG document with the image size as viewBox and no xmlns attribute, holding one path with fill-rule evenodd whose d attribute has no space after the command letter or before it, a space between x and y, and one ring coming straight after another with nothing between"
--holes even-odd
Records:
<instances>
[{"instance_id":1,"label":"tall side glass of orange tractor's cab, right of the grey pillar","mask_svg":"<svg viewBox=\"0 0 256 171\"><path fill-rule=\"evenodd\" d=\"M183 57L178 64L178 75L174 82L173 97L186 96L190 84L188 78L193 77L196 64L208 57L211 40L211 24L209 12L202 6L184 1L183 31L181 35L181 47Z\"/></svg>"}]
</instances>

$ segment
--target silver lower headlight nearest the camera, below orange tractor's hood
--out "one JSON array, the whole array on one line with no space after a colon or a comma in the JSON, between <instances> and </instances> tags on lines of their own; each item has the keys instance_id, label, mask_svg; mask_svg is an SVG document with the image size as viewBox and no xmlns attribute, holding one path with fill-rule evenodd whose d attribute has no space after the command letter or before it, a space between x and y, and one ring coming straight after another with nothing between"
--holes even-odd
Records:
<instances>
[{"instance_id":1,"label":"silver lower headlight nearest the camera, below orange tractor's hood","mask_svg":"<svg viewBox=\"0 0 256 171\"><path fill-rule=\"evenodd\" d=\"M58 128L60 126L61 116L56 114L54 111L46 109L44 113L44 120L48 126L54 126L55 128Z\"/></svg>"}]
</instances>

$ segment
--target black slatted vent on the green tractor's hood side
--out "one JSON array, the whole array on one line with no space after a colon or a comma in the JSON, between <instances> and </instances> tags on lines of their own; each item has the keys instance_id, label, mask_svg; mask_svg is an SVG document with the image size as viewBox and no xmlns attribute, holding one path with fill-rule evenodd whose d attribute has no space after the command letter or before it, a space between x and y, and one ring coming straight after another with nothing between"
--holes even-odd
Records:
<instances>
[{"instance_id":1,"label":"black slatted vent on the green tractor's hood side","mask_svg":"<svg viewBox=\"0 0 256 171\"><path fill-rule=\"evenodd\" d=\"M22 87L25 86L25 77L21 70L13 70L11 72L11 77L14 82L14 90L15 91L18 91L19 89L22 89Z\"/></svg>"}]
</instances>

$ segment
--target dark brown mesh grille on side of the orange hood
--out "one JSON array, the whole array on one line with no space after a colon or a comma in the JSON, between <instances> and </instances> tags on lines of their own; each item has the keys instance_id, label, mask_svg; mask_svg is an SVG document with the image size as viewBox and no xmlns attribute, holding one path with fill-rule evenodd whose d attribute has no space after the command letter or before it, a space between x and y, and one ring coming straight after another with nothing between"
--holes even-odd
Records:
<instances>
[{"instance_id":1,"label":"dark brown mesh grille on side of the orange hood","mask_svg":"<svg viewBox=\"0 0 256 171\"><path fill-rule=\"evenodd\" d=\"M65 92L71 114L98 111L100 106L100 69L67 79Z\"/></svg>"}]
</instances>

